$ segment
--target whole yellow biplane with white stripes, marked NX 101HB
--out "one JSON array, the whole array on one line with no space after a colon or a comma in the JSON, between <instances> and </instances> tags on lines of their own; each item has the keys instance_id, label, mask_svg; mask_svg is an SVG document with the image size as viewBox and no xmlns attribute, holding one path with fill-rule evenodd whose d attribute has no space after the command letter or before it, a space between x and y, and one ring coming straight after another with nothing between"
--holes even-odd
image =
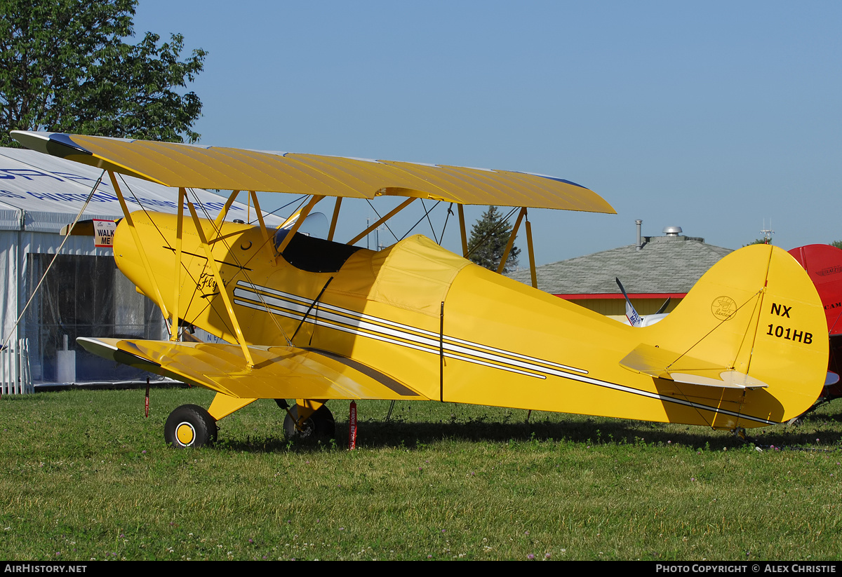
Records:
<instances>
[{"instance_id":1,"label":"whole yellow biplane with white stripes, marked NX 101HB","mask_svg":"<svg viewBox=\"0 0 842 577\"><path fill-rule=\"evenodd\" d=\"M254 400L287 408L290 433L333 434L328 400L438 400L736 430L802 414L827 370L824 313L785 251L748 246L706 273L667 318L624 326L478 267L424 236L383 251L333 241L344 198L402 196L463 204L613 213L596 193L522 172L335 156L13 132L29 148L101 167L125 217L117 266L157 303L169 341L80 339L120 363L216 391L184 405L165 437L216 437L216 421ZM130 213L115 173L178 188L179 214ZM297 219L269 230L201 219L187 188L304 193ZM327 239L298 232L334 197ZM184 214L184 208L189 211ZM531 233L525 226L535 284ZM514 239L514 233L512 235ZM510 247L510 243L509 243ZM508 249L507 249L508 251ZM506 261L506 257L502 262ZM226 342L179 341L198 326ZM824 336L824 338L822 338ZM227 344L230 343L230 344ZM287 399L295 399L289 408Z\"/></svg>"}]
</instances>

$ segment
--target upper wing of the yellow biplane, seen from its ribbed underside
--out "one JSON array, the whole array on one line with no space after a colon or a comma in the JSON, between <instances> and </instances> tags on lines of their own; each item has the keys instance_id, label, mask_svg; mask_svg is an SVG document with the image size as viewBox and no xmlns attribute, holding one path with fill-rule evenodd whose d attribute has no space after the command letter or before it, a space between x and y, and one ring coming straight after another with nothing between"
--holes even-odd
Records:
<instances>
[{"instance_id":1,"label":"upper wing of the yellow biplane, seen from its ribbed underside","mask_svg":"<svg viewBox=\"0 0 842 577\"><path fill-rule=\"evenodd\" d=\"M14 130L33 150L169 187L379 195L616 214L576 183L528 172Z\"/></svg>"}]
</instances>

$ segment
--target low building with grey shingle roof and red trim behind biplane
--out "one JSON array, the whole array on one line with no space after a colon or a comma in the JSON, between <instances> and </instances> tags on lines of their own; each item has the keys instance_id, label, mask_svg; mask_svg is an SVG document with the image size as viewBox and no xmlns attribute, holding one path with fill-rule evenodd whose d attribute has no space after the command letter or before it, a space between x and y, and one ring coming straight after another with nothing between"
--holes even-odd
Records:
<instances>
[{"instance_id":1,"label":"low building with grey shingle roof and red trim behind biplane","mask_svg":"<svg viewBox=\"0 0 842 577\"><path fill-rule=\"evenodd\" d=\"M651 315L666 299L673 310L701 275L732 249L684 236L680 227L667 227L666 236L639 236L637 244L594 252L584 257L536 267L538 288L574 300L603 315L624 315L620 278L641 315ZM530 271L509 277L530 284Z\"/></svg>"}]
</instances>

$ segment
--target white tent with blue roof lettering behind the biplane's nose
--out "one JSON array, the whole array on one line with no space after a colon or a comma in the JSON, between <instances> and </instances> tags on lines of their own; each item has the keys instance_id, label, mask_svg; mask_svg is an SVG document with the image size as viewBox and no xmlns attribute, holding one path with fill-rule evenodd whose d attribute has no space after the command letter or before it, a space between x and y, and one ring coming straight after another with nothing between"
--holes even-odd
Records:
<instances>
[{"instance_id":1,"label":"white tent with blue roof lettering behind the biplane's nose","mask_svg":"<svg viewBox=\"0 0 842 577\"><path fill-rule=\"evenodd\" d=\"M130 209L176 212L178 196L174 189L138 178L117 177ZM70 380L57 374L56 358L65 336L70 337L70 349L76 348L75 336L163 336L160 312L116 271L111 249L95 248L88 236L70 236L59 251L65 241L61 227L73 222L100 178L81 220L122 217L108 175L35 151L0 148L0 342L29 339L35 382ZM190 191L189 196L197 211L210 217L225 204L224 198L205 190ZM255 213L246 204L235 203L226 218L248 221L255 218ZM281 222L278 217L267 218L269 226ZM56 252L61 257L17 324ZM99 335L77 335L80 331ZM114 363L86 357L81 349L78 352L80 381L132 378L125 370L112 368ZM0 380L3 370L0 363Z\"/></svg>"}]
</instances>

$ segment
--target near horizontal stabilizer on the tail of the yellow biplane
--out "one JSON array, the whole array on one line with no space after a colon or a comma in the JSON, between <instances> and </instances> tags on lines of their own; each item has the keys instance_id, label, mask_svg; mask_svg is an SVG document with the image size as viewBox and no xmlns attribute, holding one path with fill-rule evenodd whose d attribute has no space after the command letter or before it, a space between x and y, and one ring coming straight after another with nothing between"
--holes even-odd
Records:
<instances>
[{"instance_id":1,"label":"near horizontal stabilizer on the tail of the yellow biplane","mask_svg":"<svg viewBox=\"0 0 842 577\"><path fill-rule=\"evenodd\" d=\"M646 344L635 347L620 364L636 373L705 387L760 389L767 386L763 381L733 368Z\"/></svg>"}]
</instances>

